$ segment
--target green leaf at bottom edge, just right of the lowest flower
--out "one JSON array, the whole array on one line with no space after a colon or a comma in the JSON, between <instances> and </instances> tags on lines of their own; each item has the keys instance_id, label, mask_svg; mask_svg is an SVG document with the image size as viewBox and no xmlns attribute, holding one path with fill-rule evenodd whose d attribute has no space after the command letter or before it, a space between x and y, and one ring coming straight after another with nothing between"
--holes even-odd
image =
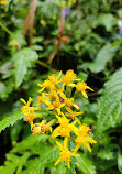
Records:
<instances>
[{"instance_id":1,"label":"green leaf at bottom edge, just right of the lowest flower","mask_svg":"<svg viewBox=\"0 0 122 174\"><path fill-rule=\"evenodd\" d=\"M92 161L80 153L80 156L76 157L77 167L86 174L96 174L96 166L92 164Z\"/></svg>"}]
</instances>

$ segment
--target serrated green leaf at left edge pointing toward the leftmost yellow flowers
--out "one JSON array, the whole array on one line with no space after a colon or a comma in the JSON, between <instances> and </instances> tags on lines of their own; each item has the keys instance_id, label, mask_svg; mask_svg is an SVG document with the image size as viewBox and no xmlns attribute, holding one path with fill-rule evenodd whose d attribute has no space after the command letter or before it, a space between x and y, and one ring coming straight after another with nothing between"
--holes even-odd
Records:
<instances>
[{"instance_id":1,"label":"serrated green leaf at left edge pointing toward the leftmost yellow flowers","mask_svg":"<svg viewBox=\"0 0 122 174\"><path fill-rule=\"evenodd\" d=\"M19 119L22 119L24 116L21 111L15 112L14 115L4 118L0 121L0 132L4 130L7 127L13 126Z\"/></svg>"}]
</instances>

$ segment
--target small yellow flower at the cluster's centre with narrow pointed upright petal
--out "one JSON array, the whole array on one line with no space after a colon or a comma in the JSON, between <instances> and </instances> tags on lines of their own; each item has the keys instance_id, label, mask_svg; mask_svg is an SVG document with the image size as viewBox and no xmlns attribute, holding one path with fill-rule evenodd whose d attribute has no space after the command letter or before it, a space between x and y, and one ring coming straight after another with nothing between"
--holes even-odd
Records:
<instances>
[{"instance_id":1,"label":"small yellow flower at the cluster's centre with narrow pointed upright petal","mask_svg":"<svg viewBox=\"0 0 122 174\"><path fill-rule=\"evenodd\" d=\"M45 108L46 110L56 110L58 115L60 115L60 108L65 106L59 101L59 97L57 96L56 100L53 104L47 105L48 107Z\"/></svg>"}]
</instances>

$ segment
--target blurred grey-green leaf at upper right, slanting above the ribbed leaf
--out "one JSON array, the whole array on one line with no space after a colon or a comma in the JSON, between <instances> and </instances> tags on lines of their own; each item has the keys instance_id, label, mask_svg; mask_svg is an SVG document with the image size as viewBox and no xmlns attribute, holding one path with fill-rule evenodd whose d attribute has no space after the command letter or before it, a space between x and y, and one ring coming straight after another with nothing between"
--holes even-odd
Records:
<instances>
[{"instance_id":1,"label":"blurred grey-green leaf at upper right, slanting above the ribbed leaf","mask_svg":"<svg viewBox=\"0 0 122 174\"><path fill-rule=\"evenodd\" d=\"M84 63L82 68L89 68L92 73L99 73L104 70L107 63L113 58L118 47L110 47L111 44L107 43L97 54L95 62Z\"/></svg>"}]
</instances>

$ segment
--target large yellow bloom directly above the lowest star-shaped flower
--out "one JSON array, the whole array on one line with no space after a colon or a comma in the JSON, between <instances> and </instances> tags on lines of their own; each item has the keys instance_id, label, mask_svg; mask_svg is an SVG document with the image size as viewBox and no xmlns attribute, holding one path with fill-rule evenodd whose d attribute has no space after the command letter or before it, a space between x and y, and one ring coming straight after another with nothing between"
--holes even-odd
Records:
<instances>
[{"instance_id":1,"label":"large yellow bloom directly above the lowest star-shaped flower","mask_svg":"<svg viewBox=\"0 0 122 174\"><path fill-rule=\"evenodd\" d=\"M74 122L69 123L70 119L67 119L64 113L62 115L63 117L56 115L56 118L58 119L57 123L59 123L59 126L53 131L53 138L58 135L69 138L70 132L74 130L74 126L77 122L77 120L75 120Z\"/></svg>"}]
</instances>

